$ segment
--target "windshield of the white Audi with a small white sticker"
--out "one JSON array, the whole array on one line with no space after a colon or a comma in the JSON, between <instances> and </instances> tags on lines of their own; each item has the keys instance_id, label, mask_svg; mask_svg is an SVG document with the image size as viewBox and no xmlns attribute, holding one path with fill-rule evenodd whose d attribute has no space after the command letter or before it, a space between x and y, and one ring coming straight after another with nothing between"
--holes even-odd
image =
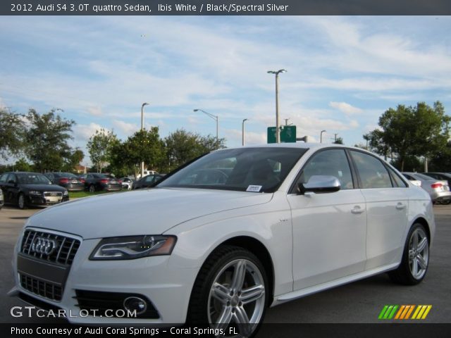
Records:
<instances>
[{"instance_id":1,"label":"windshield of the white Audi with a small white sticker","mask_svg":"<svg viewBox=\"0 0 451 338\"><path fill-rule=\"evenodd\" d=\"M214 151L156 187L275 192L307 149L242 148Z\"/></svg>"}]
</instances>

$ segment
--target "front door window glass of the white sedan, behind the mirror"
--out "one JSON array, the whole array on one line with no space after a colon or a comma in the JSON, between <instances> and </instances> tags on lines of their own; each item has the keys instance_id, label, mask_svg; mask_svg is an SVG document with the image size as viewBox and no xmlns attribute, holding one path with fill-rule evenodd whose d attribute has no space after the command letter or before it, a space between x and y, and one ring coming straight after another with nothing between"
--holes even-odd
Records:
<instances>
[{"instance_id":1,"label":"front door window glass of the white sedan, behind the mirror","mask_svg":"<svg viewBox=\"0 0 451 338\"><path fill-rule=\"evenodd\" d=\"M354 188L350 164L344 149L329 149L315 154L302 169L297 184L309 182L310 177L314 175L338 178L342 190Z\"/></svg>"}]
</instances>

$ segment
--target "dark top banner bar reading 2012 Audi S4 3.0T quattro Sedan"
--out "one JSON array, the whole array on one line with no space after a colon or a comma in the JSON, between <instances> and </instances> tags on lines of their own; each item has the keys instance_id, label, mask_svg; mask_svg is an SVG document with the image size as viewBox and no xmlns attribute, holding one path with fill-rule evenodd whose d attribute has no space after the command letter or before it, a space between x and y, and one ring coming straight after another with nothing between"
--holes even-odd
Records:
<instances>
[{"instance_id":1,"label":"dark top banner bar reading 2012 Audi S4 3.0T quattro Sedan","mask_svg":"<svg viewBox=\"0 0 451 338\"><path fill-rule=\"evenodd\" d=\"M0 15L451 15L451 1L2 0Z\"/></svg>"}]
</instances>

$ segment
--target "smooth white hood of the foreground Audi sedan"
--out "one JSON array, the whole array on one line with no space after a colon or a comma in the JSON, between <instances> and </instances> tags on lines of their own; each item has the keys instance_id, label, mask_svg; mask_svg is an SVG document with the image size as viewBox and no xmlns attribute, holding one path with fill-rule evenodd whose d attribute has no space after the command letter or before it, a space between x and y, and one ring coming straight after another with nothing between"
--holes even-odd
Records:
<instances>
[{"instance_id":1,"label":"smooth white hood of the foreground Audi sedan","mask_svg":"<svg viewBox=\"0 0 451 338\"><path fill-rule=\"evenodd\" d=\"M84 239L161 234L203 215L267 203L272 196L213 189L146 189L52 206L32 215L26 225Z\"/></svg>"}]
</instances>

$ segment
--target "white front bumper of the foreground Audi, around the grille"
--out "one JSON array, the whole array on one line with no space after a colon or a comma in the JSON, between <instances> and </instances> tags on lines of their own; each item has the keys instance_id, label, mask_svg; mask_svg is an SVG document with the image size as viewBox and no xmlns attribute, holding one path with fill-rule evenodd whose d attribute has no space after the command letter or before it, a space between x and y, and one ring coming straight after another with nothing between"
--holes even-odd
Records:
<instances>
[{"instance_id":1,"label":"white front bumper of the foreground Audi, around the grille","mask_svg":"<svg viewBox=\"0 0 451 338\"><path fill-rule=\"evenodd\" d=\"M18 243L21 241L22 239L19 239ZM185 323L192 285L198 269L176 268L175 264L171 264L173 259L171 256L154 256L130 261L89 261L88 257L98 243L99 239L89 239L80 244L70 267L61 301L46 299L27 291L20 285L17 270L18 249L16 248L13 258L16 287L11 290L11 293L20 292L27 295L28 299L30 297L37 299L34 305L38 307L42 307L39 306L39 301L43 301L50 306L63 309L66 313L71 313L67 318L70 323ZM99 315L77 315L80 313L76 299L77 290L142 295L152 302L158 318L106 318Z\"/></svg>"}]
</instances>

